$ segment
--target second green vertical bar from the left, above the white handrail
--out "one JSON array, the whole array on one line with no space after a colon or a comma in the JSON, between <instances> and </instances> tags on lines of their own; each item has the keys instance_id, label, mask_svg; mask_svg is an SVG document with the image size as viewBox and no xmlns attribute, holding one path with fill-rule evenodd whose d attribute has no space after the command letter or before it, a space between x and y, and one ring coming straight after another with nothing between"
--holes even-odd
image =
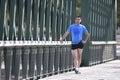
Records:
<instances>
[{"instance_id":1,"label":"second green vertical bar from the left, above the white handrail","mask_svg":"<svg viewBox=\"0 0 120 80\"><path fill-rule=\"evenodd\" d=\"M16 39L15 15L16 15L16 0L11 0L10 1L9 40Z\"/></svg>"}]
</instances>

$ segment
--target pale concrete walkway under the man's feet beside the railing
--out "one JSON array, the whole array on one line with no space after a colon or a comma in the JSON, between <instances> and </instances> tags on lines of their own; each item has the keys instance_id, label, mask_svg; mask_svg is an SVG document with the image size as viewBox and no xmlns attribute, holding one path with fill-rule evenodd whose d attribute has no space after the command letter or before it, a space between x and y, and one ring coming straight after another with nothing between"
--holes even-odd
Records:
<instances>
[{"instance_id":1,"label":"pale concrete walkway under the man's feet beside the railing","mask_svg":"<svg viewBox=\"0 0 120 80\"><path fill-rule=\"evenodd\" d=\"M81 74L74 71L40 80L120 80L120 60L113 60L92 67L81 67Z\"/></svg>"}]
</instances>

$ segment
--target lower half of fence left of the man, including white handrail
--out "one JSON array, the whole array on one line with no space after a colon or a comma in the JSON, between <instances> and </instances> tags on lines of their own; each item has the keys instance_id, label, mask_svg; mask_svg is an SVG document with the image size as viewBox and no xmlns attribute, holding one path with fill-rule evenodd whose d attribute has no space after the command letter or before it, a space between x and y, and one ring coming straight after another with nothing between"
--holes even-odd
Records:
<instances>
[{"instance_id":1,"label":"lower half of fence left of the man, including white handrail","mask_svg":"<svg viewBox=\"0 0 120 80\"><path fill-rule=\"evenodd\" d=\"M0 57L5 58L0 68L0 79L39 79L73 70L70 42L61 44L50 41L4 41L0 43L3 44L0 46Z\"/></svg>"}]
</instances>

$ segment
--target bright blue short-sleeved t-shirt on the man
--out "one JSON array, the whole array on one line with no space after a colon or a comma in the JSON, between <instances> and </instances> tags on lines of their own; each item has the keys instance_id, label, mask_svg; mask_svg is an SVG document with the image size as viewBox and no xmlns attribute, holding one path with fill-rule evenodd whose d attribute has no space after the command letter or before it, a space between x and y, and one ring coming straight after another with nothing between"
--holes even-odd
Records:
<instances>
[{"instance_id":1,"label":"bright blue short-sleeved t-shirt on the man","mask_svg":"<svg viewBox=\"0 0 120 80\"><path fill-rule=\"evenodd\" d=\"M72 24L68 27L67 32L72 34L72 44L78 44L82 40L82 34L88 31L82 24Z\"/></svg>"}]
</instances>

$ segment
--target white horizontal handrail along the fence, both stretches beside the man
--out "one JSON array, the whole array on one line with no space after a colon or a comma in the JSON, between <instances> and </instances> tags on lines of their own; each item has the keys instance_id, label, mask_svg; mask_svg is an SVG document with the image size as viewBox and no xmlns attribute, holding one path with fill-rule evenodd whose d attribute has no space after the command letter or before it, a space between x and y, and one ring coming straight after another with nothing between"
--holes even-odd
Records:
<instances>
[{"instance_id":1,"label":"white horizontal handrail along the fence, both stretches beside the man","mask_svg":"<svg viewBox=\"0 0 120 80\"><path fill-rule=\"evenodd\" d=\"M91 41L91 45L120 45L120 41ZM0 41L0 47L10 46L39 46L39 45L71 45L71 41Z\"/></svg>"}]
</instances>

